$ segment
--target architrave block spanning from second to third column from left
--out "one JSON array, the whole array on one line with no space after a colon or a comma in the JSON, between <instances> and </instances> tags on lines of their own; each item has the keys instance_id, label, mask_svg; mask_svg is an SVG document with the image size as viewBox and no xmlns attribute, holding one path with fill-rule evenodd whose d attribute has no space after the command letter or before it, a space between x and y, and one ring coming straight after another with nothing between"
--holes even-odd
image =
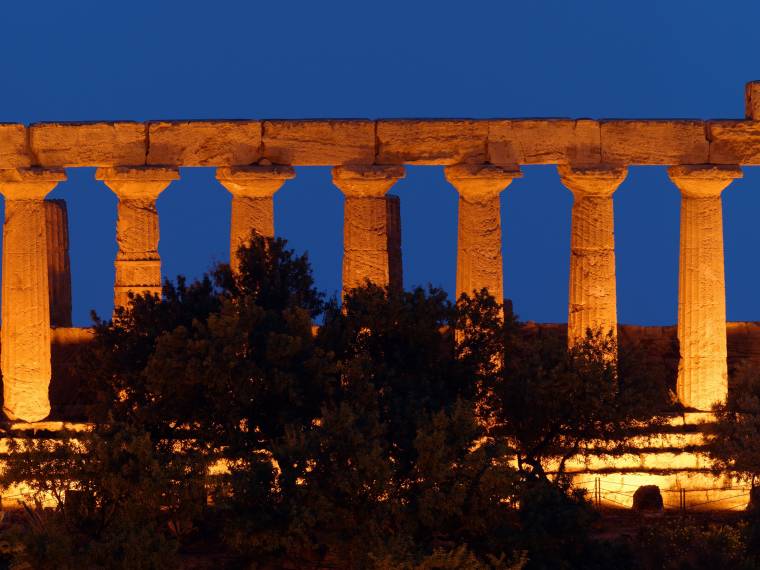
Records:
<instances>
[{"instance_id":1,"label":"architrave block spanning from second to third column from left","mask_svg":"<svg viewBox=\"0 0 760 570\"><path fill-rule=\"evenodd\" d=\"M161 121L148 126L148 164L240 166L261 158L261 121Z\"/></svg>"}]
</instances>

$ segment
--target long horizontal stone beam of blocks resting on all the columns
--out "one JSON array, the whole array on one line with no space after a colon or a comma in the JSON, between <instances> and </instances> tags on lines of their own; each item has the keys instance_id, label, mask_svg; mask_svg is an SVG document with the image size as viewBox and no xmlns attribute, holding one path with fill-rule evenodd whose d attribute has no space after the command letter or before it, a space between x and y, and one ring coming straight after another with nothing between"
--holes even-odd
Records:
<instances>
[{"instance_id":1,"label":"long horizontal stone beam of blocks resting on all the columns","mask_svg":"<svg viewBox=\"0 0 760 570\"><path fill-rule=\"evenodd\" d=\"M746 118L334 119L0 124L0 169L80 166L760 165Z\"/></svg>"}]
</instances>

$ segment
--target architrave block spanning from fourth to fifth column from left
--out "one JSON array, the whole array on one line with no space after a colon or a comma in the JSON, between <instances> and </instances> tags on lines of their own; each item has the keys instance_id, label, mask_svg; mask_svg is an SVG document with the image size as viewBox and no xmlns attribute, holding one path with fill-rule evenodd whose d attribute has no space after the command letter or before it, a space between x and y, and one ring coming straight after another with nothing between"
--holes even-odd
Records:
<instances>
[{"instance_id":1,"label":"architrave block spanning from fourth to fifth column from left","mask_svg":"<svg viewBox=\"0 0 760 570\"><path fill-rule=\"evenodd\" d=\"M378 164L481 164L487 160L488 121L377 122Z\"/></svg>"}]
</instances>

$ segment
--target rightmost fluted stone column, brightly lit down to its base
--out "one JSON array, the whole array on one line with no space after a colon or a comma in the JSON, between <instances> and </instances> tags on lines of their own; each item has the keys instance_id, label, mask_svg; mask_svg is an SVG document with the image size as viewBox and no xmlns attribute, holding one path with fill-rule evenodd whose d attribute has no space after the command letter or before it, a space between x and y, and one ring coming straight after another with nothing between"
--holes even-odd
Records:
<instances>
[{"instance_id":1,"label":"rightmost fluted stone column, brightly lit down to its base","mask_svg":"<svg viewBox=\"0 0 760 570\"><path fill-rule=\"evenodd\" d=\"M742 176L736 166L674 166L681 191L678 277L678 397L684 406L709 410L726 399L726 286L720 194Z\"/></svg>"}]
</instances>

